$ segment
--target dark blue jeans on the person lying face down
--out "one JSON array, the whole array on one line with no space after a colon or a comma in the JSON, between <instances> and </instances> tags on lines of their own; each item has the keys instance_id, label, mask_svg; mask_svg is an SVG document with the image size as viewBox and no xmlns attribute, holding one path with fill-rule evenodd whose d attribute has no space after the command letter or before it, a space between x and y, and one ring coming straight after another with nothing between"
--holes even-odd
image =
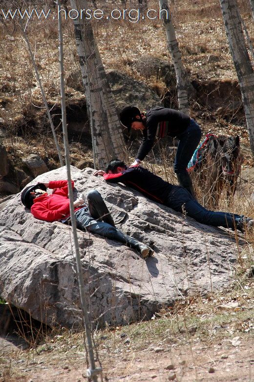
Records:
<instances>
[{"instance_id":1,"label":"dark blue jeans on the person lying face down","mask_svg":"<svg viewBox=\"0 0 254 382\"><path fill-rule=\"evenodd\" d=\"M235 229L241 224L243 216L229 212L209 211L194 199L190 192L180 186L172 186L168 199L164 203L177 212L186 212L202 224Z\"/></svg>"}]
</instances>

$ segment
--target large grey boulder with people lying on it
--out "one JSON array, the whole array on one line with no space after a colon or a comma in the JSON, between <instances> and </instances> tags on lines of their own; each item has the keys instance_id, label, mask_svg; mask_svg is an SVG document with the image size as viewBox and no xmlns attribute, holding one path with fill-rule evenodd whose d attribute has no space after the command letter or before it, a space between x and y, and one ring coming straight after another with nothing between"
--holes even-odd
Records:
<instances>
[{"instance_id":1,"label":"large grey boulder with people lying on it","mask_svg":"<svg viewBox=\"0 0 254 382\"><path fill-rule=\"evenodd\" d=\"M146 261L134 250L78 231L94 324L125 324L188 294L228 287L237 245L226 230L184 218L136 191L109 185L91 169L71 168L80 192L96 188L117 226L153 246ZM66 168L34 182L66 179ZM51 326L79 327L80 303L70 227L35 219L20 194L0 213L0 296Z\"/></svg>"}]
</instances>

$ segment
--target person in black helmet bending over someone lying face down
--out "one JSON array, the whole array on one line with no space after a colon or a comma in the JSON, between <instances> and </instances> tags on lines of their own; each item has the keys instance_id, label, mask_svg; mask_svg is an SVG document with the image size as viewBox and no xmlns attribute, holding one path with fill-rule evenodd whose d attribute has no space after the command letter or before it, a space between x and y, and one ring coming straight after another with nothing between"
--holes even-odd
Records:
<instances>
[{"instance_id":1,"label":"person in black helmet bending over someone lying face down","mask_svg":"<svg viewBox=\"0 0 254 382\"><path fill-rule=\"evenodd\" d=\"M132 166L138 166L151 150L155 137L166 135L179 140L174 172L180 186L187 189L194 197L191 177L187 171L188 163L197 148L202 132L198 124L187 114L167 107L156 106L141 112L136 106L127 106L120 113L120 122L128 131L142 130L143 141Z\"/></svg>"}]
</instances>

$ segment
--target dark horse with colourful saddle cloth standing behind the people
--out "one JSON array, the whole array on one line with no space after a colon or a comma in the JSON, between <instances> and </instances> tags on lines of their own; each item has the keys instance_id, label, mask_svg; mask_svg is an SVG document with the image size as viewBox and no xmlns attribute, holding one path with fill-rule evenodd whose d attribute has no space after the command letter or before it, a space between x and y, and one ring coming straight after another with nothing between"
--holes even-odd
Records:
<instances>
[{"instance_id":1,"label":"dark horse with colourful saddle cloth standing behind the people","mask_svg":"<svg viewBox=\"0 0 254 382\"><path fill-rule=\"evenodd\" d=\"M241 170L240 138L209 133L194 152L188 171L204 192L203 203L216 208L221 192L232 199Z\"/></svg>"}]
</instances>

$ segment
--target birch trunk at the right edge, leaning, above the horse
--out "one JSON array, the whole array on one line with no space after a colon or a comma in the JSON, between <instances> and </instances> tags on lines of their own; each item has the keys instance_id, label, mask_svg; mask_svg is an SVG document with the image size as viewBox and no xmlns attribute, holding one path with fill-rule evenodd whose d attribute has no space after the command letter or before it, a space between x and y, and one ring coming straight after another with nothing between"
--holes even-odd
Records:
<instances>
[{"instance_id":1,"label":"birch trunk at the right edge, leaning, above the horse","mask_svg":"<svg viewBox=\"0 0 254 382\"><path fill-rule=\"evenodd\" d=\"M254 154L254 71L245 44L241 16L236 0L220 0L220 6L242 93L251 150Z\"/></svg>"}]
</instances>

